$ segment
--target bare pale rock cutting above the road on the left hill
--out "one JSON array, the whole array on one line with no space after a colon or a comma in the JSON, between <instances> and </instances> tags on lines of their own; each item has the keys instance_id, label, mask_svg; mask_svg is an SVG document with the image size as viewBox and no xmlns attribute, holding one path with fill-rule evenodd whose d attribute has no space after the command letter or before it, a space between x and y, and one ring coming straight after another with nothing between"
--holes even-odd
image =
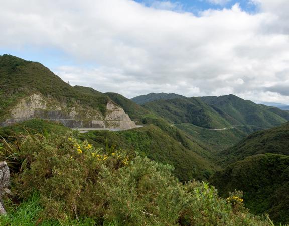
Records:
<instances>
[{"instance_id":1,"label":"bare pale rock cutting above the road on the left hill","mask_svg":"<svg viewBox=\"0 0 289 226\"><path fill-rule=\"evenodd\" d=\"M53 99L44 98L39 94L33 94L24 98L15 105L10 112L11 117L0 123L0 126L39 118L58 121L67 127L93 127L93 128L135 128L135 123L130 120L124 110L108 102L105 116L97 109L83 108L75 104L68 107Z\"/></svg>"}]
</instances>

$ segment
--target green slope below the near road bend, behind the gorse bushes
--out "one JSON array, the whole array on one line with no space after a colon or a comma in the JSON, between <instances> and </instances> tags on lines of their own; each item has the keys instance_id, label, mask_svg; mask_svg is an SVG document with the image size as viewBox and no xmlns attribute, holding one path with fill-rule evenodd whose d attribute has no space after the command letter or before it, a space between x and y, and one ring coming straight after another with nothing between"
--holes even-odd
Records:
<instances>
[{"instance_id":1,"label":"green slope below the near road bend, behind the gorse bushes","mask_svg":"<svg viewBox=\"0 0 289 226\"><path fill-rule=\"evenodd\" d=\"M157 162L170 164L181 181L206 180L219 169L198 154L202 151L200 146L189 150L154 125L118 132L91 131L83 134L83 138L96 147L105 147L107 141L109 146L117 145L116 148L137 151Z\"/></svg>"}]
</instances>

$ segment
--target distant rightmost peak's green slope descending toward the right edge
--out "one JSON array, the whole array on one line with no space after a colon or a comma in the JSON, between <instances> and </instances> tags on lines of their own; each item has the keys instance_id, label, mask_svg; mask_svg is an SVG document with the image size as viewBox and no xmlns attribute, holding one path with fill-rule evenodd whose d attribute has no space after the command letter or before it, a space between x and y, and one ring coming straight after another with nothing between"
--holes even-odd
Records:
<instances>
[{"instance_id":1,"label":"distant rightmost peak's green slope descending toward the right edge","mask_svg":"<svg viewBox=\"0 0 289 226\"><path fill-rule=\"evenodd\" d=\"M211 106L215 106L237 120L241 125L249 125L253 129L265 129L278 126L287 119L270 110L243 100L234 95L198 97ZM286 112L285 112L285 115Z\"/></svg>"}]
</instances>

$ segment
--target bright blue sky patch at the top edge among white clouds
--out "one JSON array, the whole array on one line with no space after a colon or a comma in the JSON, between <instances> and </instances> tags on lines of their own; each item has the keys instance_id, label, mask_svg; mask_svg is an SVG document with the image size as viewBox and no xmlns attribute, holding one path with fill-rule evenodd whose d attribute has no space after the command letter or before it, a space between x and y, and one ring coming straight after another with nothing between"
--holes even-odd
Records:
<instances>
[{"instance_id":1,"label":"bright blue sky patch at the top edge among white clouds","mask_svg":"<svg viewBox=\"0 0 289 226\"><path fill-rule=\"evenodd\" d=\"M223 8L231 8L235 4L239 4L240 8L243 11L248 13L256 13L258 11L258 7L252 3L251 0L134 0L135 2L141 3L147 7L154 5L156 2L171 2L175 4L177 7L177 11L179 8L182 8L182 11L191 12L196 16L200 11L208 10L208 9L217 9L221 10ZM220 4L216 4L219 2Z\"/></svg>"}]
</instances>

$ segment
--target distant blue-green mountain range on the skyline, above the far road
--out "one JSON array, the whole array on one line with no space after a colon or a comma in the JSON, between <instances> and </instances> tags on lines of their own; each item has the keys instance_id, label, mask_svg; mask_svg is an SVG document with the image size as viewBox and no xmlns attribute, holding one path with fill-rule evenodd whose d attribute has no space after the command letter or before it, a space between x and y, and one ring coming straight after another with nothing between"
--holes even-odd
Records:
<instances>
[{"instance_id":1,"label":"distant blue-green mountain range on the skyline, above the far road","mask_svg":"<svg viewBox=\"0 0 289 226\"><path fill-rule=\"evenodd\" d=\"M191 123L205 128L249 126L270 128L289 120L289 112L243 100L234 95L185 97L174 93L150 93L131 99L171 123Z\"/></svg>"}]
</instances>

